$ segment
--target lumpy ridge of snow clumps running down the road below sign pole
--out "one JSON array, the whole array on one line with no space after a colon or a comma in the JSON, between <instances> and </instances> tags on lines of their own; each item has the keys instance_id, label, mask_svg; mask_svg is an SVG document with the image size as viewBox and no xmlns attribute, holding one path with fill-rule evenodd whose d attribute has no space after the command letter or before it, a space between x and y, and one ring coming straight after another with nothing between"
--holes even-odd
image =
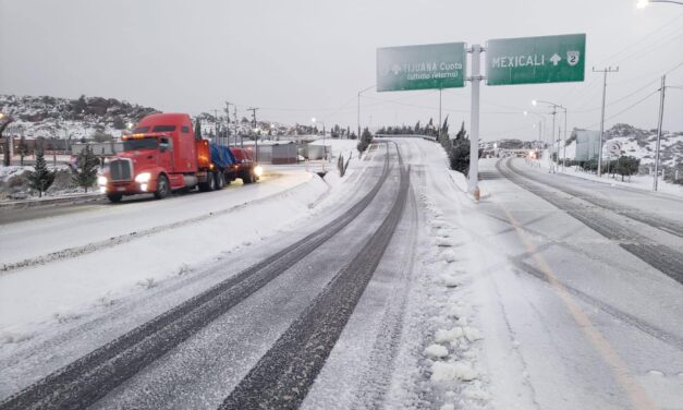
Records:
<instances>
[{"instance_id":1,"label":"lumpy ridge of snow clumps running down the road below sign pole","mask_svg":"<svg viewBox=\"0 0 683 410\"><path fill-rule=\"evenodd\" d=\"M423 263L423 287L431 317L424 340L422 390L441 409L487 408L490 403L486 375L477 366L481 331L469 324L474 308L468 302L471 278L463 232L424 193L427 227L434 248ZM462 248L461 248L462 246ZM463 251L461 251L461 249Z\"/></svg>"}]
</instances>

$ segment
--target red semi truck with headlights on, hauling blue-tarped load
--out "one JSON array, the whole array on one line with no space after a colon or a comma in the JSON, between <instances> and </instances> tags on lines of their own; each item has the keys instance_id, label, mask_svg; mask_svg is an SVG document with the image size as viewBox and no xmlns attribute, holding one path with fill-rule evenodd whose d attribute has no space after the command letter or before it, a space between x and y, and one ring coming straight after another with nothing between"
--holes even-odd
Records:
<instances>
[{"instance_id":1,"label":"red semi truck with headlights on, hauling blue-tarped load","mask_svg":"<svg viewBox=\"0 0 683 410\"><path fill-rule=\"evenodd\" d=\"M186 113L147 116L122 140L122 152L97 181L111 202L142 193L160 200L175 190L214 191L237 178L252 183L260 177L251 150L197 138Z\"/></svg>"}]
</instances>

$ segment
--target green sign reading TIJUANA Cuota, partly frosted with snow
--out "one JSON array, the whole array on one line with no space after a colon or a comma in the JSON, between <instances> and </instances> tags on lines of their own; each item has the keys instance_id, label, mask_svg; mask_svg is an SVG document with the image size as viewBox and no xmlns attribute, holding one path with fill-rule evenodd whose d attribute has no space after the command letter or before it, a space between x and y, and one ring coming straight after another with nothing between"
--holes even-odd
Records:
<instances>
[{"instance_id":1,"label":"green sign reading TIJUANA Cuota, partly frosted with snow","mask_svg":"<svg viewBox=\"0 0 683 410\"><path fill-rule=\"evenodd\" d=\"M465 44L447 43L377 49L377 91L465 86Z\"/></svg>"}]
</instances>

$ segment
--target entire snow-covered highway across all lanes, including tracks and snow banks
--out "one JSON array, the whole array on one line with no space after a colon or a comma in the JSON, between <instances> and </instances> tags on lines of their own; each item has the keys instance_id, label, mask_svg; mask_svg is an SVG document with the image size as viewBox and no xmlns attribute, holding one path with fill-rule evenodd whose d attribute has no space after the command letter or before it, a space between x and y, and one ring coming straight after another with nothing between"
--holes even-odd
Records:
<instances>
[{"instance_id":1,"label":"entire snow-covered highway across all lanes, including tracks and snow banks","mask_svg":"<svg viewBox=\"0 0 683 410\"><path fill-rule=\"evenodd\" d=\"M475 203L382 138L326 182L3 225L0 409L683 408L680 200L480 169Z\"/></svg>"}]
</instances>

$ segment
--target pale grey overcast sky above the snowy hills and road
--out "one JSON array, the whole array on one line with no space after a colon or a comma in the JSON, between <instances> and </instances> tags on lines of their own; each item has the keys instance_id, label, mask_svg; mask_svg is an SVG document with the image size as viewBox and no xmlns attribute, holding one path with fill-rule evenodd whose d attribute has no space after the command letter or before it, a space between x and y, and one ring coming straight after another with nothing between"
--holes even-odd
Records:
<instances>
[{"instance_id":1,"label":"pale grey overcast sky above the snowy hills and road","mask_svg":"<svg viewBox=\"0 0 683 410\"><path fill-rule=\"evenodd\" d=\"M619 65L608 77L607 126L656 128L659 77L678 67L667 83L683 86L683 7L668 3L0 0L0 94L85 94L193 114L231 101L240 117L259 107L259 119L315 117L355 129L356 94L376 83L378 47L573 33L587 36L586 81L483 86L483 138L536 136L538 118L522 114L532 99L568 107L570 130L599 128L602 76L594 65ZM442 104L451 123L467 129L469 92L444 89ZM362 123L436 121L438 106L437 91L368 91ZM667 89L664 129L683 131L681 88Z\"/></svg>"}]
</instances>

